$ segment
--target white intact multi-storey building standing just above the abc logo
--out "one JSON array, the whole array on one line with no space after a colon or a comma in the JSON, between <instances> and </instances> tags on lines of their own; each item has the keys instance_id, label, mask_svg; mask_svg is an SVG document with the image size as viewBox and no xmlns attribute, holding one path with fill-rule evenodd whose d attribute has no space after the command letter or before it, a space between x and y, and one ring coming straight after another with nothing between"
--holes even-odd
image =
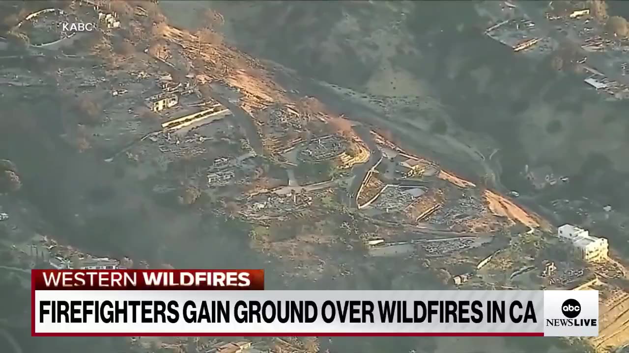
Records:
<instances>
[{"instance_id":1,"label":"white intact multi-storey building standing just above the abc logo","mask_svg":"<svg viewBox=\"0 0 629 353\"><path fill-rule=\"evenodd\" d=\"M596 261L607 258L610 244L605 238L593 237L589 231L572 224L564 224L557 229L559 239L570 242L584 261Z\"/></svg>"}]
</instances>

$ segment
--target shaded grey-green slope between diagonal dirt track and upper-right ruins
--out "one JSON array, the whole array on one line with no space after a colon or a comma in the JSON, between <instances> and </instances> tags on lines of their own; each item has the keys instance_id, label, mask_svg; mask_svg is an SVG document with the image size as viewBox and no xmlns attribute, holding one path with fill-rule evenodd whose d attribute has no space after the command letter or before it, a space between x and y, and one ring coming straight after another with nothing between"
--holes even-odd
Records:
<instances>
[{"instance_id":1,"label":"shaded grey-green slope between diagonal dirt track and upper-right ruins","mask_svg":"<svg viewBox=\"0 0 629 353\"><path fill-rule=\"evenodd\" d=\"M466 143L479 150L501 149L503 171L550 165L555 173L579 175L579 182L599 187L607 202L626 205L603 187L610 182L629 187L623 176L629 173L629 122L621 118L626 103L606 102L570 70L557 72L545 58L519 57L484 36L491 21L478 14L479 3L217 1L196 6L223 14L228 40L242 50L357 95L392 102L395 109L387 117L393 121L418 129L439 126L438 131L445 122L447 134L471 133ZM162 8L174 23L189 11L168 1ZM612 2L611 11L623 11L623 5ZM586 170L604 172L581 173Z\"/></svg>"}]
</instances>

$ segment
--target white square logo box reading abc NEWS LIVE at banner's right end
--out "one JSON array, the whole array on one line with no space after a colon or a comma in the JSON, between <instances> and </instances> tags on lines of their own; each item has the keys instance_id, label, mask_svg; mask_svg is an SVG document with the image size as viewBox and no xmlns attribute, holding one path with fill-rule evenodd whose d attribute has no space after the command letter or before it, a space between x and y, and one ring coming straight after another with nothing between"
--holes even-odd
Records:
<instances>
[{"instance_id":1,"label":"white square logo box reading abc NEWS LIVE at banner's right end","mask_svg":"<svg viewBox=\"0 0 629 353\"><path fill-rule=\"evenodd\" d=\"M570 293L572 292L572 293ZM564 298L545 298L545 335L554 336L597 336L598 335L598 291L587 296L576 295L578 291L565 291ZM595 295L592 297L593 294ZM565 299L566 296L574 297ZM550 302L548 302L548 301ZM586 305L584 307L584 305ZM560 304L560 305L559 305Z\"/></svg>"}]
</instances>

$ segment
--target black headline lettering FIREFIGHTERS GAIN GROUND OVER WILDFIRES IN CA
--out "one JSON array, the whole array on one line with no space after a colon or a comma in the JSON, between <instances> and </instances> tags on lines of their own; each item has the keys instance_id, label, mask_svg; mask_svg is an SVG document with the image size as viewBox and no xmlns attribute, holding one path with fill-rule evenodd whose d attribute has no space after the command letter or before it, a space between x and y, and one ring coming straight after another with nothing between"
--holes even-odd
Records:
<instances>
[{"instance_id":1,"label":"black headline lettering FIREFIGHTERS GAIN GROUND OVER WILDFIRES IN CA","mask_svg":"<svg viewBox=\"0 0 629 353\"><path fill-rule=\"evenodd\" d=\"M531 301L43 300L40 323L537 323Z\"/></svg>"}]
</instances>

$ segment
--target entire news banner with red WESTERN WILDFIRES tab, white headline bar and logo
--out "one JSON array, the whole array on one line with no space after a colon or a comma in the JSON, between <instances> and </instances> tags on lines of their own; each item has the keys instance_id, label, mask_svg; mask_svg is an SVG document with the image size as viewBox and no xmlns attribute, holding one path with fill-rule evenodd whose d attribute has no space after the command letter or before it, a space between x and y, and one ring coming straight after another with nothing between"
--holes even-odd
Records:
<instances>
[{"instance_id":1,"label":"entire news banner with red WESTERN WILDFIRES tab, white headline bar and logo","mask_svg":"<svg viewBox=\"0 0 629 353\"><path fill-rule=\"evenodd\" d=\"M264 271L32 271L33 336L597 336L598 291L264 290Z\"/></svg>"}]
</instances>

